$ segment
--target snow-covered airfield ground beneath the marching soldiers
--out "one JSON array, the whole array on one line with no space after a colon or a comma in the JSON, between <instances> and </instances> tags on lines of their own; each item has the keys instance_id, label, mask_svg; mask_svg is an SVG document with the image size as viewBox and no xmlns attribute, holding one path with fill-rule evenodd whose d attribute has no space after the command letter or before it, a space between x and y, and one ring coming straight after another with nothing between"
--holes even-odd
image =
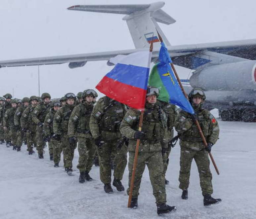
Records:
<instances>
[{"instance_id":1,"label":"snow-covered airfield ground beneath the marching soldiers","mask_svg":"<svg viewBox=\"0 0 256 219\"><path fill-rule=\"evenodd\" d=\"M216 115L216 111L214 111ZM167 203L177 206L177 211L165 218L200 219L255 219L256 218L256 123L222 122L220 139L212 154L220 170L213 173L213 197L221 198L219 205L203 207L196 165L193 162L189 199L181 199L178 188L179 144L172 150L167 170ZM99 168L93 166L92 182L80 184L76 168L78 152L75 151L73 176L53 167L48 150L43 160L37 154L28 155L26 146L21 152L0 145L0 218L1 219L85 219L85 218L158 218L155 200L146 169L138 200L139 208L128 209L126 192L106 194L100 181ZM128 185L126 168L122 180Z\"/></svg>"}]
</instances>

